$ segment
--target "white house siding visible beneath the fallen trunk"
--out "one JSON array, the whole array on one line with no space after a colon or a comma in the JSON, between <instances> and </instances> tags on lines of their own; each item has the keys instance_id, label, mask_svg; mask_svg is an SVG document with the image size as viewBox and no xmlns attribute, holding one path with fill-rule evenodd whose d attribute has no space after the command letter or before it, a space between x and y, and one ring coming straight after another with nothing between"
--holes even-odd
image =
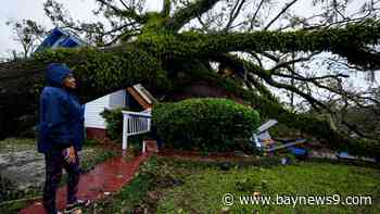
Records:
<instances>
[{"instance_id":1,"label":"white house siding visible beneath the fallen trunk","mask_svg":"<svg viewBox=\"0 0 380 214\"><path fill-rule=\"evenodd\" d=\"M104 108L110 108L110 95L86 103L85 127L105 129L106 123L100 115Z\"/></svg>"}]
</instances>

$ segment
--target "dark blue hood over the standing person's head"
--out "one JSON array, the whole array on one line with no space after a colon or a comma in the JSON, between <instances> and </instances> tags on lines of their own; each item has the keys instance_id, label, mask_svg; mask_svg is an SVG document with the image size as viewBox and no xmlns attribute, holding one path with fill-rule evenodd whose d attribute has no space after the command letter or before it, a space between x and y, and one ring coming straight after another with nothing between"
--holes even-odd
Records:
<instances>
[{"instance_id":1,"label":"dark blue hood over the standing person's head","mask_svg":"<svg viewBox=\"0 0 380 214\"><path fill-rule=\"evenodd\" d=\"M73 74L65 64L62 63L51 63L48 65L45 78L49 86L62 87L63 79Z\"/></svg>"}]
</instances>

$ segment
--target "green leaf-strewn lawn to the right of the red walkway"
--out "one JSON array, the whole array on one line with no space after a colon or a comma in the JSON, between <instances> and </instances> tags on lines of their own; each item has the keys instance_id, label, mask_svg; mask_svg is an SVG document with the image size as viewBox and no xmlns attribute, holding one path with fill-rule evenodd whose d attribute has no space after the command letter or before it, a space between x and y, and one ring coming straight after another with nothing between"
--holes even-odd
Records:
<instances>
[{"instance_id":1,"label":"green leaf-strewn lawn to the right of the red walkway","mask_svg":"<svg viewBox=\"0 0 380 214\"><path fill-rule=\"evenodd\" d=\"M135 179L86 213L380 213L380 169L299 162L257 166L152 156ZM370 196L372 205L240 205L239 196ZM225 193L236 204L221 202ZM337 198L334 198L335 200Z\"/></svg>"}]
</instances>

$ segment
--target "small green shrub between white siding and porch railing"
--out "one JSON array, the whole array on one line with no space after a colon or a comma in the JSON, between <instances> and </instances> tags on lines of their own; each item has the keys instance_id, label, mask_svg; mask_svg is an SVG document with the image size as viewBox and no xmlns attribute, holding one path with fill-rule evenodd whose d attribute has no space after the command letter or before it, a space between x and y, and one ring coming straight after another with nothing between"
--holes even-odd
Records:
<instances>
[{"instance_id":1,"label":"small green shrub between white siding and porch railing","mask_svg":"<svg viewBox=\"0 0 380 214\"><path fill-rule=\"evenodd\" d=\"M100 115L106 122L106 133L112 140L121 140L123 131L123 113L129 111L129 108L118 108L114 110L104 109Z\"/></svg>"}]
</instances>

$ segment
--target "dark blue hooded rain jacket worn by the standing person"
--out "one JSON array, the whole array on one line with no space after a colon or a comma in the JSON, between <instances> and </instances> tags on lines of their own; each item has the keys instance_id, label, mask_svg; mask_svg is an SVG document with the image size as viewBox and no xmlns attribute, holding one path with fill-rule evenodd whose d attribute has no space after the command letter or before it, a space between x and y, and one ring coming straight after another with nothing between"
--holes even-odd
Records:
<instances>
[{"instance_id":1,"label":"dark blue hooded rain jacket worn by the standing person","mask_svg":"<svg viewBox=\"0 0 380 214\"><path fill-rule=\"evenodd\" d=\"M74 146L81 150L84 141L85 105L63 87L72 71L61 63L51 63L46 71L46 86L40 96L38 151L60 153Z\"/></svg>"}]
</instances>

